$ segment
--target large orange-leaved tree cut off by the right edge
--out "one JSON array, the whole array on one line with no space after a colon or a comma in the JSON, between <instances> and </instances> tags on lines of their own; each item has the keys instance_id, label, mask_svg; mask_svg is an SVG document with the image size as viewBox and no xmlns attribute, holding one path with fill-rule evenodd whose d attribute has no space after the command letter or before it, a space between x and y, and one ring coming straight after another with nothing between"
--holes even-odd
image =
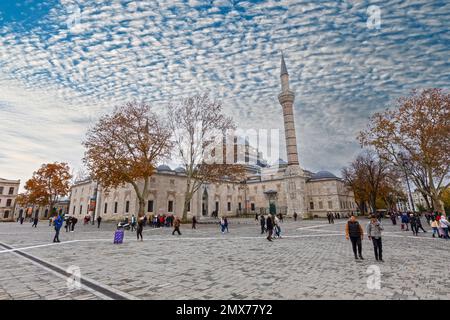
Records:
<instances>
[{"instance_id":1,"label":"large orange-leaved tree cut off by the right edge","mask_svg":"<svg viewBox=\"0 0 450 320\"><path fill-rule=\"evenodd\" d=\"M402 168L433 208L443 211L442 192L450 186L450 94L413 91L395 108L374 114L359 140Z\"/></svg>"}]
</instances>

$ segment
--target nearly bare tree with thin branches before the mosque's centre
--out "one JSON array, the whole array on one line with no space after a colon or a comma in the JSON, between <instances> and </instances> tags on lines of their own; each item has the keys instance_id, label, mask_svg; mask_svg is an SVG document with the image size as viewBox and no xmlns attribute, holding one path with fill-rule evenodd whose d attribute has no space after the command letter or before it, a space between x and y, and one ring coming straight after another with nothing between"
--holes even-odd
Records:
<instances>
[{"instance_id":1,"label":"nearly bare tree with thin branches before the mosque's centre","mask_svg":"<svg viewBox=\"0 0 450 320\"><path fill-rule=\"evenodd\" d=\"M222 161L209 161L214 157L215 147L222 147L225 132L234 129L219 101L211 100L207 93L199 94L170 104L168 110L175 150L186 172L183 220L187 220L189 203L202 184L224 179L240 181L244 169L227 163L225 148L218 148L224 155Z\"/></svg>"}]
</instances>

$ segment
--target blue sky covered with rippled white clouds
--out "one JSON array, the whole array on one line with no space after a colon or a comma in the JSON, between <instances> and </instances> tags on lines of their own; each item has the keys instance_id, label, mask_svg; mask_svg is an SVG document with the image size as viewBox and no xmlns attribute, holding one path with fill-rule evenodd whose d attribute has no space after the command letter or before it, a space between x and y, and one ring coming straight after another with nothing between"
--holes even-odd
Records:
<instances>
[{"instance_id":1,"label":"blue sky covered with rippled white clouds","mask_svg":"<svg viewBox=\"0 0 450 320\"><path fill-rule=\"evenodd\" d=\"M78 168L88 126L134 99L210 90L240 128L283 129L281 50L301 165L339 174L373 112L449 88L449 30L445 0L2 0L0 176Z\"/></svg>"}]
</instances>

